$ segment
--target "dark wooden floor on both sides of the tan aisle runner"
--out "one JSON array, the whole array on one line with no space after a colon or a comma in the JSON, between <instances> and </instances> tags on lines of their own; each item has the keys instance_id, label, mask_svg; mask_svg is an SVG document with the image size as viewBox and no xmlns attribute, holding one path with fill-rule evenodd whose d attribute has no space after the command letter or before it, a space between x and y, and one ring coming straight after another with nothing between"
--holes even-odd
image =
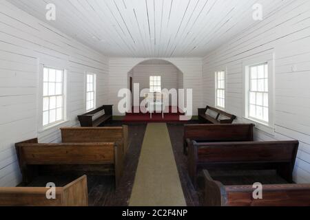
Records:
<instances>
[{"instance_id":1,"label":"dark wooden floor on both sides of the tan aisle runner","mask_svg":"<svg viewBox=\"0 0 310 220\"><path fill-rule=\"evenodd\" d=\"M113 122L113 124L107 126L120 125L121 122ZM123 177L121 177L121 184L117 190L115 190L114 177L112 176L87 176L90 206L128 206L146 126L146 123L128 124L130 147L125 158L125 168ZM184 124L169 123L167 126L187 206L200 206L202 192L194 189L187 171L187 157L183 155ZM235 173L234 175L229 173L227 175L227 173L210 172L210 174L216 180L223 181L223 184L240 184L240 179L245 180L244 184L251 184L256 180L260 182L263 181L262 184L286 183L283 179L275 177L276 175L269 175L269 173ZM38 177L28 186L46 186L48 182L54 182L56 186L61 187L76 178L76 176L70 175L65 177Z\"/></svg>"}]
</instances>

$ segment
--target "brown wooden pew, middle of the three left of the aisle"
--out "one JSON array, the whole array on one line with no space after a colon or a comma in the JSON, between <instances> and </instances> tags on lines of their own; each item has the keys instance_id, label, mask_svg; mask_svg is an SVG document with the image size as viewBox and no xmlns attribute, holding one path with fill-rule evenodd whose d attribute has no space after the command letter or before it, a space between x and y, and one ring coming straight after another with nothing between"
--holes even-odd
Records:
<instances>
[{"instance_id":1,"label":"brown wooden pew, middle of the three left of the aisle","mask_svg":"<svg viewBox=\"0 0 310 220\"><path fill-rule=\"evenodd\" d=\"M123 146L115 142L39 144L37 139L15 144L23 183L38 175L114 175L123 172Z\"/></svg>"}]
</instances>

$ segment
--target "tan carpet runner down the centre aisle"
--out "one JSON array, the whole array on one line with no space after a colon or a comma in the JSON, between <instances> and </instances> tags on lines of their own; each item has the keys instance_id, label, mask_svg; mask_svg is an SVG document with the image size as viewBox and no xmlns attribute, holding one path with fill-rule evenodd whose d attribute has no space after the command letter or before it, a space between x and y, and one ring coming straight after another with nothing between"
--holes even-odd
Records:
<instances>
[{"instance_id":1,"label":"tan carpet runner down the centre aisle","mask_svg":"<svg viewBox=\"0 0 310 220\"><path fill-rule=\"evenodd\" d=\"M147 125L130 206L186 206L166 124Z\"/></svg>"}]
</instances>

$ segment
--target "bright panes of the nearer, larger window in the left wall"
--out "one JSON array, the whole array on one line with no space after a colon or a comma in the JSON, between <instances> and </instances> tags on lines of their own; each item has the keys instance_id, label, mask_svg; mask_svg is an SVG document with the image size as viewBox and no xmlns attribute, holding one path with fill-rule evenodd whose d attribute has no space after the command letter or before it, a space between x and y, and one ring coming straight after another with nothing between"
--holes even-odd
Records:
<instances>
[{"instance_id":1,"label":"bright panes of the nearer, larger window in the left wall","mask_svg":"<svg viewBox=\"0 0 310 220\"><path fill-rule=\"evenodd\" d=\"M43 126L63 121L63 79L63 70L43 67Z\"/></svg>"}]
</instances>

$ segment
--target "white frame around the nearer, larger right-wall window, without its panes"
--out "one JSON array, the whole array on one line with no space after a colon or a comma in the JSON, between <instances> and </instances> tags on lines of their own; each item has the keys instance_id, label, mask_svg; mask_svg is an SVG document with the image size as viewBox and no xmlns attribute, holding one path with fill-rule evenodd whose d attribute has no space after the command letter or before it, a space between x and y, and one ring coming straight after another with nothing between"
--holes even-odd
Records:
<instances>
[{"instance_id":1,"label":"white frame around the nearer, larger right-wall window, without its panes","mask_svg":"<svg viewBox=\"0 0 310 220\"><path fill-rule=\"evenodd\" d=\"M249 117L249 89L250 89L250 67L266 63L268 65L268 100L269 100L269 122ZM271 133L274 131L274 54L266 54L243 62L243 118L258 125Z\"/></svg>"}]
</instances>

